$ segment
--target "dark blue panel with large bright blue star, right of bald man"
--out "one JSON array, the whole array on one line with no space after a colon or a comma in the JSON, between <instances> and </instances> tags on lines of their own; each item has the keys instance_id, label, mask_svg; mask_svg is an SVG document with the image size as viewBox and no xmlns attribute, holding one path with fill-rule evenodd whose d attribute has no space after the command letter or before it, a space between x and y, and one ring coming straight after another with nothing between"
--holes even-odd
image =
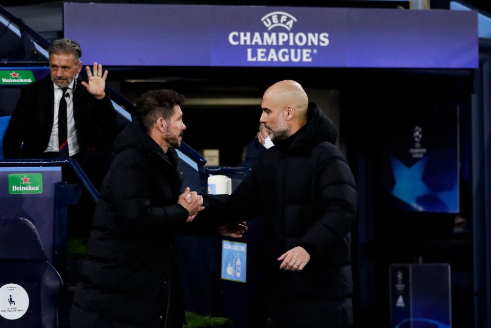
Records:
<instances>
[{"instance_id":1,"label":"dark blue panel with large bright blue star, right of bald man","mask_svg":"<svg viewBox=\"0 0 491 328\"><path fill-rule=\"evenodd\" d=\"M381 120L382 184L397 209L459 213L459 121L454 105L398 108Z\"/></svg>"}]
</instances>

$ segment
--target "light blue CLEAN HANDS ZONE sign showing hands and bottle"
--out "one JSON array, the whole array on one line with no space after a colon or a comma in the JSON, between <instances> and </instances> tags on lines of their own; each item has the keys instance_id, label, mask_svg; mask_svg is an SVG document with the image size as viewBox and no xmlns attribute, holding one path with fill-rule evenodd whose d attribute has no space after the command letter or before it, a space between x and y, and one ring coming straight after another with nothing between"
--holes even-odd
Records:
<instances>
[{"instance_id":1,"label":"light blue CLEAN HANDS ZONE sign showing hands and bottle","mask_svg":"<svg viewBox=\"0 0 491 328\"><path fill-rule=\"evenodd\" d=\"M224 280L246 282L247 244L222 240L221 278Z\"/></svg>"}]
</instances>

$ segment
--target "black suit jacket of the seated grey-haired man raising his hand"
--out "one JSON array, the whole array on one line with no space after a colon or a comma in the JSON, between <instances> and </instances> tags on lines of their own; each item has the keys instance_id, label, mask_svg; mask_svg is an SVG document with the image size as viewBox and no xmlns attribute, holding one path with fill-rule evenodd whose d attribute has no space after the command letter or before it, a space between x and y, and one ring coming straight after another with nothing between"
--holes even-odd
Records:
<instances>
[{"instance_id":1,"label":"black suit jacket of the seated grey-haired man raising his hand","mask_svg":"<svg viewBox=\"0 0 491 328\"><path fill-rule=\"evenodd\" d=\"M55 92L50 75L22 89L3 136L5 158L41 157L53 129L54 103ZM77 80L73 111L81 151L111 150L118 123L109 95L97 100Z\"/></svg>"}]
</instances>

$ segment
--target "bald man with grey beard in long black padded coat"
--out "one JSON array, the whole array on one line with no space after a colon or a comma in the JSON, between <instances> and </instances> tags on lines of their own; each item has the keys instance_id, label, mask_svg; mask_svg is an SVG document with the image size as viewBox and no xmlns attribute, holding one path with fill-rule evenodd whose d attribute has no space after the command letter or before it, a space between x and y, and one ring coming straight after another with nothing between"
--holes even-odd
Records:
<instances>
[{"instance_id":1,"label":"bald man with grey beard in long black padded coat","mask_svg":"<svg viewBox=\"0 0 491 328\"><path fill-rule=\"evenodd\" d=\"M264 320L256 327L350 327L356 185L333 146L336 129L295 81L267 89L261 107L275 147L230 197L206 196L203 212L263 218L264 298L257 302L265 300Z\"/></svg>"}]
</instances>

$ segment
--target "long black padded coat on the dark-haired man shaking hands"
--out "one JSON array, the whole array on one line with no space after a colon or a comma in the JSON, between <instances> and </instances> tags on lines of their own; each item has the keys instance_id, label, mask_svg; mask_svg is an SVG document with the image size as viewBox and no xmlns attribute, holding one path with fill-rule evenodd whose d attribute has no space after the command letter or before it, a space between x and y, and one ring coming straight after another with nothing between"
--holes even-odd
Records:
<instances>
[{"instance_id":1,"label":"long black padded coat on the dark-haired man shaking hands","mask_svg":"<svg viewBox=\"0 0 491 328\"><path fill-rule=\"evenodd\" d=\"M181 327L175 235L189 212L177 205L178 155L164 154L137 120L114 146L119 154L102 183L72 327Z\"/></svg>"}]
</instances>

